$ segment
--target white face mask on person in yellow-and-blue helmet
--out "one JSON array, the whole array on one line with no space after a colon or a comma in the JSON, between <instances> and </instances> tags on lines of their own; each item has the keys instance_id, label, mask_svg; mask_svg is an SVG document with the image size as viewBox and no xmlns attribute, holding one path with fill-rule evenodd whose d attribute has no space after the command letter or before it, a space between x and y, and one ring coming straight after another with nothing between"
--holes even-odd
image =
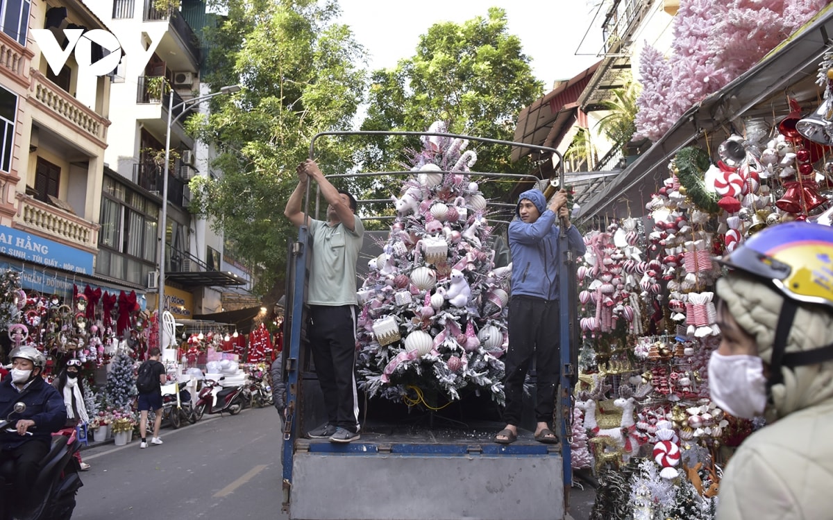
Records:
<instances>
[{"instance_id":1,"label":"white face mask on person in yellow-and-blue helmet","mask_svg":"<svg viewBox=\"0 0 833 520\"><path fill-rule=\"evenodd\" d=\"M711 353L709 359L711 400L727 414L754 418L766 407L764 362L758 356Z\"/></svg>"}]
</instances>

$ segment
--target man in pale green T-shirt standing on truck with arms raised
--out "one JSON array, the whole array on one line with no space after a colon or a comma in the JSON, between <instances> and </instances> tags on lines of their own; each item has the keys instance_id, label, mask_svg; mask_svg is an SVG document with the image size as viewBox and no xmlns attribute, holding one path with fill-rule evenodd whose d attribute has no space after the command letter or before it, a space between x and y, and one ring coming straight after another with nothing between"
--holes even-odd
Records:
<instances>
[{"instance_id":1,"label":"man in pale green T-shirt standing on truck with arms raised","mask_svg":"<svg viewBox=\"0 0 833 520\"><path fill-rule=\"evenodd\" d=\"M332 186L315 161L302 162L297 174L298 186L283 214L296 226L308 225L312 237L307 338L327 409L327 423L310 430L307 436L349 443L359 438L356 260L362 249L364 226L356 216L356 199ZM310 178L318 183L327 201L326 221L312 219L302 210Z\"/></svg>"}]
</instances>

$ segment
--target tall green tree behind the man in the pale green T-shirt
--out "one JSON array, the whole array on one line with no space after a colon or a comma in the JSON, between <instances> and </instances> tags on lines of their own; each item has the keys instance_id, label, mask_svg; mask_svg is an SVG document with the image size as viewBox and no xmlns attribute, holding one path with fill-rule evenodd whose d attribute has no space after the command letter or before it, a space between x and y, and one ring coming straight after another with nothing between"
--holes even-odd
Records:
<instances>
[{"instance_id":1,"label":"tall green tree behind the man in the pale green T-shirt","mask_svg":"<svg viewBox=\"0 0 833 520\"><path fill-rule=\"evenodd\" d=\"M189 121L216 147L212 169L222 171L192 180L191 209L246 255L257 271L253 292L269 302L282 294L287 240L296 234L283 216L295 168L317 132L351 126L366 84L364 50L348 27L332 22L336 2L220 4L217 11L227 14L205 32L211 50L204 81L240 84L242 92L215 98L210 116ZM326 139L317 141L316 156L341 167L350 159Z\"/></svg>"}]
</instances>

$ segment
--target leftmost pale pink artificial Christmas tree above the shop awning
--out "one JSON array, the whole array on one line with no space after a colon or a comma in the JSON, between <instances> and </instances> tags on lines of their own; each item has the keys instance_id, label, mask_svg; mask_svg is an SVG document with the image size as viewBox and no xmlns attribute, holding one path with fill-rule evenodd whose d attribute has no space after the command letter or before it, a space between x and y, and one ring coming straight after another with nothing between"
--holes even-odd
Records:
<instances>
[{"instance_id":1,"label":"leftmost pale pink artificial Christmas tree above the shop awning","mask_svg":"<svg viewBox=\"0 0 833 520\"><path fill-rule=\"evenodd\" d=\"M671 66L656 48L646 45L640 57L639 73L642 78L642 92L636 99L636 134L634 139L647 137L657 141L663 136L674 120L668 116L671 89Z\"/></svg>"}]
</instances>

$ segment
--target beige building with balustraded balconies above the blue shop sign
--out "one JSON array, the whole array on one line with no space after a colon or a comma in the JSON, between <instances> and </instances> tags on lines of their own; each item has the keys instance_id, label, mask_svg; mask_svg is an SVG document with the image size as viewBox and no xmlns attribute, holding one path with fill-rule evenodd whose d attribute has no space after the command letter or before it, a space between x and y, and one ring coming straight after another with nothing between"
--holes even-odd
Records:
<instances>
[{"instance_id":1,"label":"beige building with balustraded balconies above the blue shop sign","mask_svg":"<svg viewBox=\"0 0 833 520\"><path fill-rule=\"evenodd\" d=\"M96 268L111 83L87 72L106 52L64 33L107 25L78 0L2 2L0 24L0 268L22 270L25 290L135 290L143 305L144 284ZM47 60L39 29L67 53Z\"/></svg>"}]
</instances>

